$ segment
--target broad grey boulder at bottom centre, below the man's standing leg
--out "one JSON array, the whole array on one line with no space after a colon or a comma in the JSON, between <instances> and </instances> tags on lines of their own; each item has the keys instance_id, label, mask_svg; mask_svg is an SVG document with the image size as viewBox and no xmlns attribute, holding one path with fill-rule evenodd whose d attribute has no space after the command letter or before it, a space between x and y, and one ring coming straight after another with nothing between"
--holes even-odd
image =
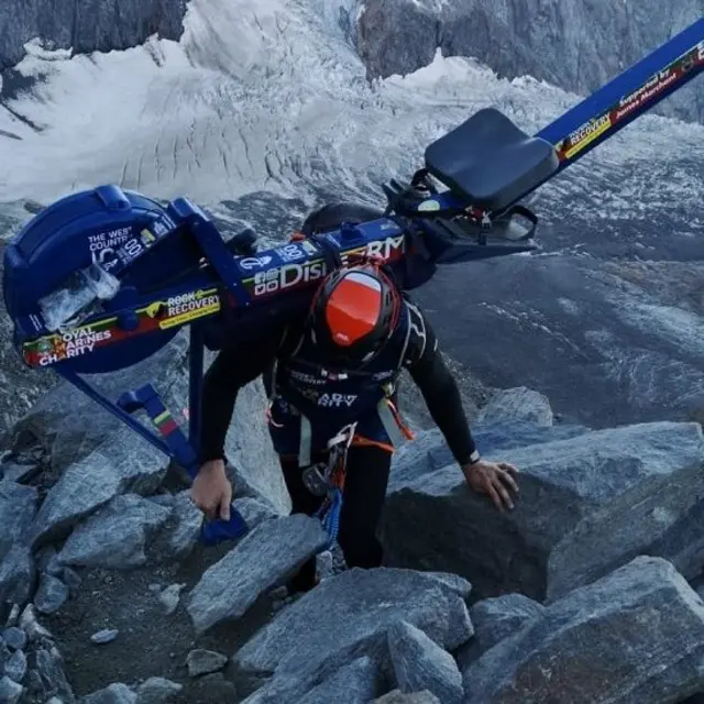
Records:
<instances>
[{"instance_id":1,"label":"broad grey boulder at bottom centre, below the man's standing leg","mask_svg":"<svg viewBox=\"0 0 704 704\"><path fill-rule=\"evenodd\" d=\"M273 674L256 693L260 704L298 702L363 656L391 679L387 631L402 619L446 650L472 636L464 600L444 580L409 570L355 568L326 580L280 612L240 648L234 662L250 673Z\"/></svg>"}]
</instances>

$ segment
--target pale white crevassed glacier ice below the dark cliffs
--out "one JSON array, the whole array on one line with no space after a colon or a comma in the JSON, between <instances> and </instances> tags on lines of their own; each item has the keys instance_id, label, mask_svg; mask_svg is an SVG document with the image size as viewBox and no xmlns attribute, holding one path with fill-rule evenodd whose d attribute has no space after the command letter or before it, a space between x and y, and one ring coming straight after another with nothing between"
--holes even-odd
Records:
<instances>
[{"instance_id":1,"label":"pale white crevassed glacier ice below the dark cliffs","mask_svg":"<svg viewBox=\"0 0 704 704\"><path fill-rule=\"evenodd\" d=\"M193 0L178 42L76 56L29 44L15 70L32 87L0 109L0 201L106 182L206 205L260 190L378 201L383 180L480 108L535 132L580 100L440 51L414 74L367 81L336 7ZM622 134L541 197L594 209L600 179L622 166L595 217L645 220L676 197L701 230L704 127L646 117Z\"/></svg>"}]
</instances>

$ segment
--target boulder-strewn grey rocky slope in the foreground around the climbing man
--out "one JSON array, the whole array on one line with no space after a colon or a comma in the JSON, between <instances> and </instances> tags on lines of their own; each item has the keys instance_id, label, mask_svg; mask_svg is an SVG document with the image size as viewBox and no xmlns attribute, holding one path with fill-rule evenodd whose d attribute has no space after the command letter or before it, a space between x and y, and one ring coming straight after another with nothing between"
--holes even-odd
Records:
<instances>
[{"instance_id":1,"label":"boulder-strewn grey rocky slope in the foreground around the climbing man","mask_svg":"<svg viewBox=\"0 0 704 704\"><path fill-rule=\"evenodd\" d=\"M148 370L174 409L185 352L177 338ZM701 426L593 431L556 422L535 392L497 393L475 433L486 457L519 466L516 508L471 494L442 438L421 431L394 461L386 565L364 571L326 550L316 519L287 516L252 420L263 407L255 383L229 439L250 532L217 547L199 542L179 473L75 392L57 387L13 428L0 463L2 701L704 695ZM312 554L322 582L292 598L280 585Z\"/></svg>"}]
</instances>

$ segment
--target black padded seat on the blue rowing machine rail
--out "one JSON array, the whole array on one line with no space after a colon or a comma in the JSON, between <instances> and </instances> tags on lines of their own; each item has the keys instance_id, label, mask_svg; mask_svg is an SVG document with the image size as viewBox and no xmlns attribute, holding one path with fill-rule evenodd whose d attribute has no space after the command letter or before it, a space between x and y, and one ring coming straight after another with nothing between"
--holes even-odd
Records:
<instances>
[{"instance_id":1,"label":"black padded seat on the blue rowing machine rail","mask_svg":"<svg viewBox=\"0 0 704 704\"><path fill-rule=\"evenodd\" d=\"M426 148L426 168L487 211L503 210L552 175L558 154L495 108L484 108Z\"/></svg>"}]
</instances>

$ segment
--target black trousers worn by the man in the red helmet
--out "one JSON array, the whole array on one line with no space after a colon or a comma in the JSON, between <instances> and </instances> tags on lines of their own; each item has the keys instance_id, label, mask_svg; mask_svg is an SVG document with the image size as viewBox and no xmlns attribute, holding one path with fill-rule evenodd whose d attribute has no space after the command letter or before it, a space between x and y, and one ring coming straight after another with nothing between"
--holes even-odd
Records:
<instances>
[{"instance_id":1,"label":"black trousers worn by the man in the red helmet","mask_svg":"<svg viewBox=\"0 0 704 704\"><path fill-rule=\"evenodd\" d=\"M312 457L314 463L324 455ZM376 529L384 508L392 454L375 446L353 446L348 452L346 477L340 513L338 543L350 568L376 568L382 564L382 546ZM312 516L324 497L311 494L302 482L297 459L282 458L284 480L292 498L292 514ZM306 562L290 581L294 591L315 586L316 560Z\"/></svg>"}]
</instances>

